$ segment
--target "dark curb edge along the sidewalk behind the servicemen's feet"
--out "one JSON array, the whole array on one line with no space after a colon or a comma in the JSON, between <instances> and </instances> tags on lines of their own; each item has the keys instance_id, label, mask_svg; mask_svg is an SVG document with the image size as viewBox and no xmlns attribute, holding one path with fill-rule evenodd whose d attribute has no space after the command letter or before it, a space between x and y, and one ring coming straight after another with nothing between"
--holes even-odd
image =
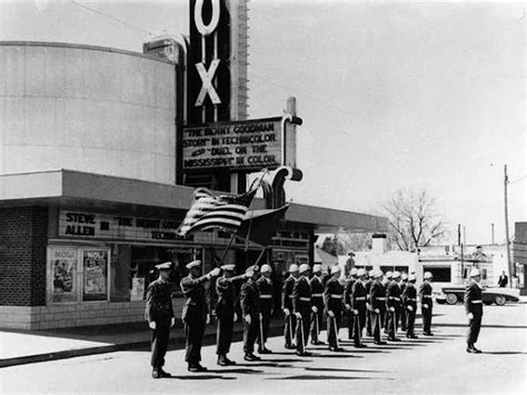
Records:
<instances>
[{"instance_id":1,"label":"dark curb edge along the sidewalk behind the servicemen's feet","mask_svg":"<svg viewBox=\"0 0 527 395\"><path fill-rule=\"evenodd\" d=\"M281 335L282 332L284 332L282 326L278 326L278 325L271 326L269 327L269 337ZM242 328L236 328L235 332L232 333L232 343L241 340L242 334L243 334ZM168 350L182 349L185 348L185 343L186 343L185 336L172 337L170 338L170 342L168 344ZM210 346L212 344L216 344L216 332L210 332L208 334L205 334L203 336L203 346ZM142 342L130 342L130 343L121 343L121 344L110 344L107 346L74 348L74 349L67 349L67 350L44 353L44 354L24 355L24 356L19 356L19 357L0 359L0 368L18 366L18 365L27 365L27 364L37 364L41 362L76 358L76 357L88 356L88 355L141 349L141 348L149 348L149 347L150 347L150 340L142 340Z\"/></svg>"}]
</instances>

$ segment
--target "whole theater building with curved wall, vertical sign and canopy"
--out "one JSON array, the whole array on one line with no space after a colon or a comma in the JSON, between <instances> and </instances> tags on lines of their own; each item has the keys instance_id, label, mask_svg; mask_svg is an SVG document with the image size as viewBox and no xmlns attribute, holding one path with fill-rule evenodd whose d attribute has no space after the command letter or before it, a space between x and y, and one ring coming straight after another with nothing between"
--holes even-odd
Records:
<instances>
[{"instance_id":1,"label":"whole theater building with curved wall, vertical sign and canopy","mask_svg":"<svg viewBox=\"0 0 527 395\"><path fill-rule=\"evenodd\" d=\"M288 204L284 185L302 178L296 102L248 118L247 4L205 3L190 1L188 37L142 53L0 42L1 327L140 322L162 261L179 315L192 259L238 273L260 259L279 284L312 264L317 234L387 231L382 217ZM178 231L197 188L240 195L253 179L243 237Z\"/></svg>"}]
</instances>

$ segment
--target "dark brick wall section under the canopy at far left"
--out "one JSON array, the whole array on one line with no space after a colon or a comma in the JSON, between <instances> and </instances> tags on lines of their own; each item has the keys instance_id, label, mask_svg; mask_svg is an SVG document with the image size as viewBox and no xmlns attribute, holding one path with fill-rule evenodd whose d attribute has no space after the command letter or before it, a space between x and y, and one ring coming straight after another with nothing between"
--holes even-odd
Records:
<instances>
[{"instance_id":1,"label":"dark brick wall section under the canopy at far left","mask_svg":"<svg viewBox=\"0 0 527 395\"><path fill-rule=\"evenodd\" d=\"M0 208L0 305L46 305L47 229L47 208Z\"/></svg>"}]
</instances>

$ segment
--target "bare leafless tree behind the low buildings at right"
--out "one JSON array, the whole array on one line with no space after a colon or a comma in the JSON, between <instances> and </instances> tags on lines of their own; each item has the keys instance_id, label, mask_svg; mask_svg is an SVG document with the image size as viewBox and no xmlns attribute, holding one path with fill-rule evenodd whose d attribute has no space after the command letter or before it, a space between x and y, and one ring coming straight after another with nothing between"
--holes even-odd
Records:
<instances>
[{"instance_id":1,"label":"bare leafless tree behind the low buildings at right","mask_svg":"<svg viewBox=\"0 0 527 395\"><path fill-rule=\"evenodd\" d=\"M436 199L425 189L398 189L384 211L390 224L390 241L401 250L429 246L447 231L436 213Z\"/></svg>"}]
</instances>

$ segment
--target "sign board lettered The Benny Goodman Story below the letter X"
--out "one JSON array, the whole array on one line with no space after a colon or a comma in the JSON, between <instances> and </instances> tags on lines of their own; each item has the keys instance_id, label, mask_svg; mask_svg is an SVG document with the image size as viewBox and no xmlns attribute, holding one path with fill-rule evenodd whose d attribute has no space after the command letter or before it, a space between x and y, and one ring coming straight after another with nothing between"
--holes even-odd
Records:
<instances>
[{"instance_id":1,"label":"sign board lettered The Benny Goodman Story below the letter X","mask_svg":"<svg viewBox=\"0 0 527 395\"><path fill-rule=\"evenodd\" d=\"M183 169L276 168L281 162L281 120L266 118L183 129Z\"/></svg>"}]
</instances>

